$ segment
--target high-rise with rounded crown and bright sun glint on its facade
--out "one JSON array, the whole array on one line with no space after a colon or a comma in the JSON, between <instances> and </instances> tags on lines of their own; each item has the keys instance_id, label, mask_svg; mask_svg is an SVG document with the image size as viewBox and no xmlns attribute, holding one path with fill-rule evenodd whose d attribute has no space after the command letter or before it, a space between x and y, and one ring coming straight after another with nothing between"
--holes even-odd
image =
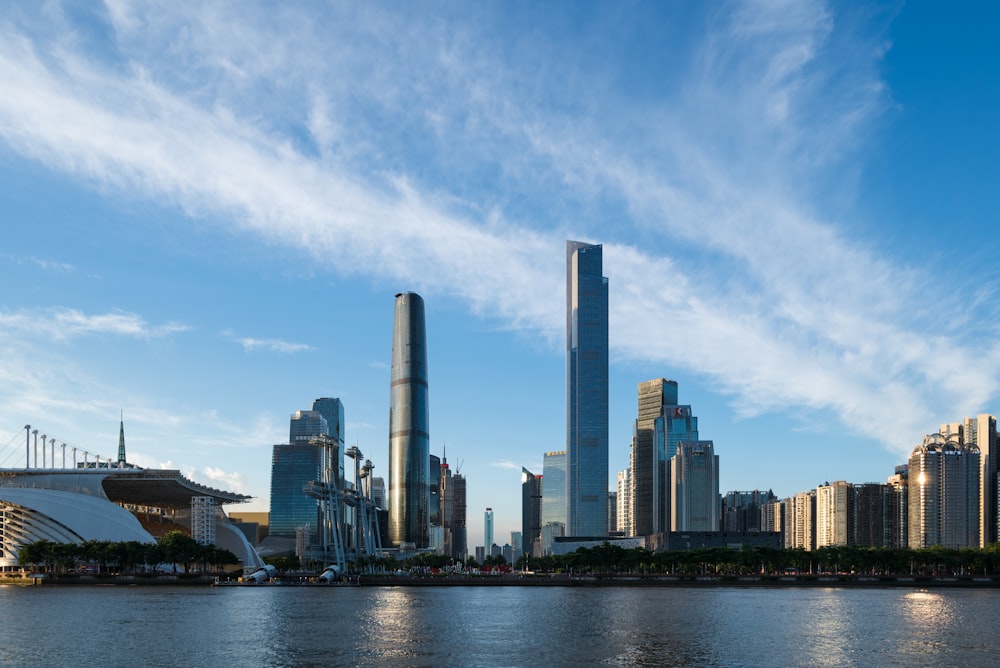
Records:
<instances>
[{"instance_id":1,"label":"high-rise with rounded crown and bright sun glint on its facade","mask_svg":"<svg viewBox=\"0 0 1000 668\"><path fill-rule=\"evenodd\" d=\"M979 476L975 445L957 435L924 437L910 455L911 548L979 546Z\"/></svg>"}]
</instances>

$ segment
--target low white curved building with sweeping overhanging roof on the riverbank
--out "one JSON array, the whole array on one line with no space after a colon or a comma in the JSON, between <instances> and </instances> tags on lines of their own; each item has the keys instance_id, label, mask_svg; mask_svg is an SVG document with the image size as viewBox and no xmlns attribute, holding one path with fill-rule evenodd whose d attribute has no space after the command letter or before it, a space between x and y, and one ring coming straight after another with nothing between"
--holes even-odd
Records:
<instances>
[{"instance_id":1,"label":"low white curved building with sweeping overhanging roof on the riverbank","mask_svg":"<svg viewBox=\"0 0 1000 668\"><path fill-rule=\"evenodd\" d=\"M39 540L155 542L140 518L149 526L150 518L167 518L167 526L211 536L209 542L235 554L244 569L257 570L263 566L257 551L221 511L250 498L199 485L175 470L0 470L0 570L18 568L18 551Z\"/></svg>"}]
</instances>

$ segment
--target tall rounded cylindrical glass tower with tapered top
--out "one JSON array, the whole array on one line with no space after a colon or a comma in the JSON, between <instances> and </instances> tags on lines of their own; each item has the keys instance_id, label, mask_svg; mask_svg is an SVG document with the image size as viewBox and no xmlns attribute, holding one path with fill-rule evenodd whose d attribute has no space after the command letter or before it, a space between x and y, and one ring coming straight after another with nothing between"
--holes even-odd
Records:
<instances>
[{"instance_id":1,"label":"tall rounded cylindrical glass tower with tapered top","mask_svg":"<svg viewBox=\"0 0 1000 668\"><path fill-rule=\"evenodd\" d=\"M396 295L389 385L389 540L427 547L430 409L424 300Z\"/></svg>"}]
</instances>

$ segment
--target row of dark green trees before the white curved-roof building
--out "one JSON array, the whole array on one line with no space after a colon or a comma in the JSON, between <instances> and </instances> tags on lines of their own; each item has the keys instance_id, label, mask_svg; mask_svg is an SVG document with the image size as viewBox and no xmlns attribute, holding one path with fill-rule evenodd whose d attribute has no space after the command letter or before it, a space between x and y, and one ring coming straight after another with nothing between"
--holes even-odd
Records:
<instances>
[{"instance_id":1,"label":"row of dark green trees before the white curved-roof building","mask_svg":"<svg viewBox=\"0 0 1000 668\"><path fill-rule=\"evenodd\" d=\"M183 531L170 531L155 543L88 540L82 543L55 543L38 540L23 545L17 553L21 568L37 568L43 573L67 573L71 570L96 567L98 573L133 574L148 572L161 564L169 564L173 572L178 566L190 573L196 565L202 572L209 567L240 563L231 551L215 545L202 545Z\"/></svg>"}]
</instances>

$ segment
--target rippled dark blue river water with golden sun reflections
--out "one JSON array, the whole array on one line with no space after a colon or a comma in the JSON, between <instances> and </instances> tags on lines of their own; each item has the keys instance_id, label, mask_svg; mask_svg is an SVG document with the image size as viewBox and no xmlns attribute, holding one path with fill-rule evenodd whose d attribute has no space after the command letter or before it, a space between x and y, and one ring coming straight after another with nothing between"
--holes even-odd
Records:
<instances>
[{"instance_id":1,"label":"rippled dark blue river water with golden sun reflections","mask_svg":"<svg viewBox=\"0 0 1000 668\"><path fill-rule=\"evenodd\" d=\"M1000 590L0 586L11 666L996 666Z\"/></svg>"}]
</instances>

